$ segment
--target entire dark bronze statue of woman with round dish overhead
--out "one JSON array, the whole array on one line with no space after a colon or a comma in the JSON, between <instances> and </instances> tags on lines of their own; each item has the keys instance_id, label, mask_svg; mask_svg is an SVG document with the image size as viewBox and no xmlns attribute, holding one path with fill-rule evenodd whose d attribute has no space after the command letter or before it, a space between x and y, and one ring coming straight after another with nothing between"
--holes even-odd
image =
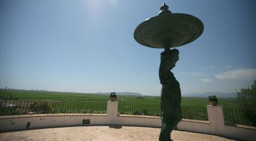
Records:
<instances>
[{"instance_id":1,"label":"entire dark bronze statue of woman with round dish overhead","mask_svg":"<svg viewBox=\"0 0 256 141\"><path fill-rule=\"evenodd\" d=\"M180 47L195 41L203 33L203 23L189 14L173 13L163 3L157 16L147 18L134 31L134 39L146 47L164 49L159 69L162 128L159 140L171 140L170 134L182 118L181 88L171 70L179 60Z\"/></svg>"}]
</instances>

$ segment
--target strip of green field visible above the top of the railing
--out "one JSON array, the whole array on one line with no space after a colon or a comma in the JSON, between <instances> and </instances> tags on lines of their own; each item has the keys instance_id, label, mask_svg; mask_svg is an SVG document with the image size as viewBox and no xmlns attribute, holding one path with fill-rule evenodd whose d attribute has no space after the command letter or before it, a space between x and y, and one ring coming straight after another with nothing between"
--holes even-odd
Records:
<instances>
[{"instance_id":1,"label":"strip of green field visible above the top of the railing","mask_svg":"<svg viewBox=\"0 0 256 141\"><path fill-rule=\"evenodd\" d=\"M74 92L51 92L51 91L27 91L27 90L5 90L0 89L1 97L11 97L12 99L22 100L75 100L75 101L93 101L106 102L109 95L85 94ZM117 95L119 103L142 103L159 104L160 96L127 96ZM235 99L218 99L218 105L234 108ZM182 97L181 105L203 107L208 104L207 98L189 98Z\"/></svg>"}]
</instances>

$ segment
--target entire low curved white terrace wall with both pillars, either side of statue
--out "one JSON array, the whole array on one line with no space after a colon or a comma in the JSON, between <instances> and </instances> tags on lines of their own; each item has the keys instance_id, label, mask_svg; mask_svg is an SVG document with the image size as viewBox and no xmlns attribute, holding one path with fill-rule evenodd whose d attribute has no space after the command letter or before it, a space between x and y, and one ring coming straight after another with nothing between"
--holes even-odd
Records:
<instances>
[{"instance_id":1,"label":"entire low curved white terrace wall with both pillars, either side of statue","mask_svg":"<svg viewBox=\"0 0 256 141\"><path fill-rule=\"evenodd\" d=\"M26 115L27 117L0 117L0 132L24 130L30 122L30 129L61 126L88 125L123 125L161 127L160 117L118 115L118 102L108 101L106 115ZM207 106L209 121L182 119L177 125L178 130L221 135L231 139L256 140L255 127L236 127L224 124L222 107ZM90 124L82 124L83 119L90 119Z\"/></svg>"}]
</instances>

